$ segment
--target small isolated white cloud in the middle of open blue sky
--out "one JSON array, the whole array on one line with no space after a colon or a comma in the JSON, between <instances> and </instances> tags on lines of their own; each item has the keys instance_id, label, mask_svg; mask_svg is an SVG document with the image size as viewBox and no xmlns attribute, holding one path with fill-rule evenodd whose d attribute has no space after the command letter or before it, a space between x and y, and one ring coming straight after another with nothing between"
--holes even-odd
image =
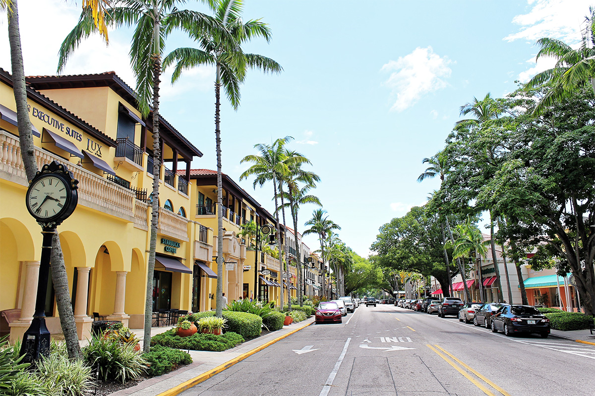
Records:
<instances>
[{"instance_id":1,"label":"small isolated white cloud in the middle of open blue sky","mask_svg":"<svg viewBox=\"0 0 595 396\"><path fill-rule=\"evenodd\" d=\"M396 96L391 110L402 112L425 94L446 87L448 84L443 78L450 77L452 70L448 65L451 63L447 56L437 55L428 46L417 47L412 53L383 65L381 70L390 72L384 85L391 88L392 97Z\"/></svg>"}]
</instances>

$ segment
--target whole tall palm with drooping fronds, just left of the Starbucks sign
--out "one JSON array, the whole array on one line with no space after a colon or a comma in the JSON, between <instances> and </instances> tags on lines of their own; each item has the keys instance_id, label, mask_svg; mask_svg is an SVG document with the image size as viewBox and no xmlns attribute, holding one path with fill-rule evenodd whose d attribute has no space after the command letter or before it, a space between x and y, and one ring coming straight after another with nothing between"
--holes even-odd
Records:
<instances>
[{"instance_id":1,"label":"whole tall palm with drooping fronds, just left of the Starbucks sign","mask_svg":"<svg viewBox=\"0 0 595 396\"><path fill-rule=\"evenodd\" d=\"M161 55L165 47L165 39L174 28L196 26L205 34L215 34L217 28L219 34L223 31L219 28L218 22L208 17L208 15L178 9L177 4L184 2L184 0L118 0L109 13L105 15L108 26L134 26L129 55L130 64L136 77L136 99L143 117L148 116L151 110L153 111L153 199L145 300L145 342L143 343L143 350L145 351L149 351L151 346L152 290L159 208L159 167L161 167L159 77L161 77L162 68ZM59 52L58 72L64 68L65 62L80 41L89 37L96 30L92 14L92 9L89 7L84 9L80 15L79 23L62 42ZM152 109L149 107L151 98Z\"/></svg>"}]
</instances>

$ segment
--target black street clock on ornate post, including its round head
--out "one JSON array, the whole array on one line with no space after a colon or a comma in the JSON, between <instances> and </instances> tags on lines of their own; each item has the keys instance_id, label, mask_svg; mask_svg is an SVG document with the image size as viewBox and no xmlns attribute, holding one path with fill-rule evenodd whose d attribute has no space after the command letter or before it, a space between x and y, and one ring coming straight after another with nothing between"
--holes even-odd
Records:
<instances>
[{"instance_id":1,"label":"black street clock on ornate post, including its round head","mask_svg":"<svg viewBox=\"0 0 595 396\"><path fill-rule=\"evenodd\" d=\"M52 161L36 173L27 189L27 210L42 227L43 242L35 313L21 344L21 355L25 355L23 362L33 363L42 355L49 356L50 334L45 325L45 299L48 291L52 238L56 233L56 227L76 208L79 201L78 184L79 180L74 179L73 173L64 164Z\"/></svg>"}]
</instances>

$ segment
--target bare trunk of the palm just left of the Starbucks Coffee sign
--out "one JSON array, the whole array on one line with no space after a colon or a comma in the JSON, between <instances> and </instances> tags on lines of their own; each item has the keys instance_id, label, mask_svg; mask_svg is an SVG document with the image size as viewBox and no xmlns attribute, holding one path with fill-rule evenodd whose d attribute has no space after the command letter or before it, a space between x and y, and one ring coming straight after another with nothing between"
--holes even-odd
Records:
<instances>
[{"instance_id":1,"label":"bare trunk of the palm just left of the Starbucks Coffee sign","mask_svg":"<svg viewBox=\"0 0 595 396\"><path fill-rule=\"evenodd\" d=\"M143 351L151 349L151 322L153 320L153 277L155 274L155 250L157 248L157 226L159 224L159 171L161 170L161 145L159 144L159 78L161 77L161 56L152 56L153 64L153 198L151 202L151 237L149 239L149 261L147 264L147 286L145 296L145 328Z\"/></svg>"}]
</instances>

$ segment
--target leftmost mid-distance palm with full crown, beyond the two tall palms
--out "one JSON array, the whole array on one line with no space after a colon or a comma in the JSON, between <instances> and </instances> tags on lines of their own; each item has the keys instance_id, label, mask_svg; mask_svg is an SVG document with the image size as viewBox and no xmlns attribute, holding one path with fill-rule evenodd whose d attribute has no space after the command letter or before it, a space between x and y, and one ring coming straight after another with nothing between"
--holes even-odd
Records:
<instances>
[{"instance_id":1,"label":"leftmost mid-distance palm with full crown, beyond the two tall palms","mask_svg":"<svg viewBox=\"0 0 595 396\"><path fill-rule=\"evenodd\" d=\"M278 194L277 194L277 180L280 179L281 175L286 174L289 172L287 168L287 163L293 160L287 160L284 156L285 153L285 145L288 141L293 140L293 137L286 136L284 138L278 138L272 145L268 144L256 144L254 148L259 151L261 154L260 156L256 155L249 155L244 157L241 163L253 163L245 172L240 175L240 181L243 179L248 178L248 176L255 176L252 186L256 189L256 185L263 186L268 181L273 182L273 192L274 192L274 199L275 199L275 208L278 207ZM277 220L277 240L281 241L280 229L279 229L279 213L275 210L275 220ZM285 221L283 221L285 223ZM281 249L279 249L279 262L280 262L280 271L279 275L281 280L283 280L283 262L281 259ZM256 285L254 286L256 287ZM288 290L289 291L289 290ZM290 302L288 297L288 302ZM281 290L281 297L279 305L283 307L284 305L284 296L283 290ZM291 306L291 304L289 303Z\"/></svg>"}]
</instances>

